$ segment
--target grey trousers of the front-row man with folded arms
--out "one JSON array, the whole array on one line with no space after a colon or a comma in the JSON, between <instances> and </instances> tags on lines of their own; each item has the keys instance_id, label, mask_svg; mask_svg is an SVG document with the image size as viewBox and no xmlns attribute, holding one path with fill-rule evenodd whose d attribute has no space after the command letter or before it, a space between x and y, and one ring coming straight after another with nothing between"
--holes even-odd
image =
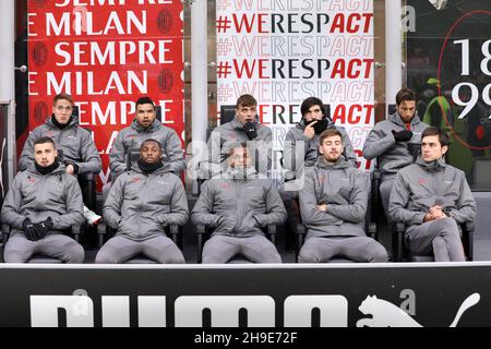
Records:
<instances>
[{"instance_id":1,"label":"grey trousers of the front-row man with folded arms","mask_svg":"<svg viewBox=\"0 0 491 349\"><path fill-rule=\"evenodd\" d=\"M369 237L309 238L300 250L298 262L328 262L334 256L355 262L387 262L384 246Z\"/></svg>"}]
</instances>

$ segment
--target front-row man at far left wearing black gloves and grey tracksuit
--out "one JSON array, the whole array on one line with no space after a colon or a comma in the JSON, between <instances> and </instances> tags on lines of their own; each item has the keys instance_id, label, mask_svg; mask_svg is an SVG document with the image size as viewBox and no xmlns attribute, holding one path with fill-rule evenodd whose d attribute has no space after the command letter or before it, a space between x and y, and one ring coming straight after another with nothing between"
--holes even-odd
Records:
<instances>
[{"instance_id":1,"label":"front-row man at far left wearing black gloves and grey tracksuit","mask_svg":"<svg viewBox=\"0 0 491 349\"><path fill-rule=\"evenodd\" d=\"M25 263L43 254L64 263L82 263L84 249L63 234L84 221L76 179L58 163L55 142L39 137L34 161L15 176L3 203L2 221L12 227L3 251L7 263Z\"/></svg>"}]
</instances>

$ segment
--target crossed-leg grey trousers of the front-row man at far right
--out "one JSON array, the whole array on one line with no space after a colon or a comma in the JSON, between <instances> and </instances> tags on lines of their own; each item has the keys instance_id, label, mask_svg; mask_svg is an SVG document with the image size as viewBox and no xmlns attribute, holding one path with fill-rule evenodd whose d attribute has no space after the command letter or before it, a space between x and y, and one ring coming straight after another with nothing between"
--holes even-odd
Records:
<instances>
[{"instance_id":1,"label":"crossed-leg grey trousers of the front-row man at far right","mask_svg":"<svg viewBox=\"0 0 491 349\"><path fill-rule=\"evenodd\" d=\"M406 232L412 254L434 254L435 262L465 262L458 226L453 218L440 218L411 226Z\"/></svg>"}]
</instances>

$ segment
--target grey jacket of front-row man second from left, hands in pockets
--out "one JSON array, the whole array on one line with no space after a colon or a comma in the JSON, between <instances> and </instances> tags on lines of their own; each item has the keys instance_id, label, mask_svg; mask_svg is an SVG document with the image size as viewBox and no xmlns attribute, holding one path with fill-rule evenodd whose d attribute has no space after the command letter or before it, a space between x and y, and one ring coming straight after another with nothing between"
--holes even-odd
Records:
<instances>
[{"instance_id":1,"label":"grey jacket of front-row man second from left, hands in pockets","mask_svg":"<svg viewBox=\"0 0 491 349\"><path fill-rule=\"evenodd\" d=\"M112 184L104 204L104 219L117 236L143 241L165 233L164 228L188 221L181 180L167 165L146 174L134 164Z\"/></svg>"}]
</instances>

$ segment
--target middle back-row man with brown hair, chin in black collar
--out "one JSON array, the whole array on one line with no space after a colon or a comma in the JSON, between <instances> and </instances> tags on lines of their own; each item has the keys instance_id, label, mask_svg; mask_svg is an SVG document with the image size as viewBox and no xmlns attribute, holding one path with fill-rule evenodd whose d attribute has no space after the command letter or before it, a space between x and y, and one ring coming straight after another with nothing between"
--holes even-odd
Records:
<instances>
[{"instance_id":1,"label":"middle back-row man with brown hair, chin in black collar","mask_svg":"<svg viewBox=\"0 0 491 349\"><path fill-rule=\"evenodd\" d=\"M203 161L200 176L209 178L227 170L227 158L231 146L248 143L251 165L258 172L267 174L272 167L272 131L258 120L258 100L251 95L237 99L236 118L213 130L207 148L208 159Z\"/></svg>"}]
</instances>

